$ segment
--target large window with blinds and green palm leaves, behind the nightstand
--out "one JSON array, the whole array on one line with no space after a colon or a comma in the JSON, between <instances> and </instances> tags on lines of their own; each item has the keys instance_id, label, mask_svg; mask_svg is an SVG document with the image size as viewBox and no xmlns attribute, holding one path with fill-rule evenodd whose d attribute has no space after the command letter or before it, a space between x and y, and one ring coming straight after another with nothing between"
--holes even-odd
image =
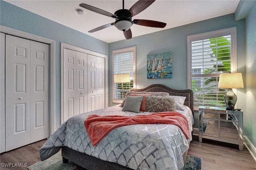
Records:
<instances>
[{"instance_id":1,"label":"large window with blinds and green palm leaves, behind the nightstand","mask_svg":"<svg viewBox=\"0 0 256 170\"><path fill-rule=\"evenodd\" d=\"M188 36L188 88L194 105L225 107L221 73L236 72L236 28Z\"/></svg>"}]
</instances>

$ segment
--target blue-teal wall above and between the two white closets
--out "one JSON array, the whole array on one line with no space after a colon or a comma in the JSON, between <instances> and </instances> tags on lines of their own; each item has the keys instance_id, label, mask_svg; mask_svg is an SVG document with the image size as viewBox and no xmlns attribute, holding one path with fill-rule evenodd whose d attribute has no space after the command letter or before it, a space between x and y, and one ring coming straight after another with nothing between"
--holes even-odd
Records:
<instances>
[{"instance_id":1,"label":"blue-teal wall above and between the two white closets","mask_svg":"<svg viewBox=\"0 0 256 170\"><path fill-rule=\"evenodd\" d=\"M0 0L0 25L28 32L56 42L55 73L56 110L55 125L60 126L60 43L67 43L108 55L108 43L48 20L42 16Z\"/></svg>"}]
</instances>

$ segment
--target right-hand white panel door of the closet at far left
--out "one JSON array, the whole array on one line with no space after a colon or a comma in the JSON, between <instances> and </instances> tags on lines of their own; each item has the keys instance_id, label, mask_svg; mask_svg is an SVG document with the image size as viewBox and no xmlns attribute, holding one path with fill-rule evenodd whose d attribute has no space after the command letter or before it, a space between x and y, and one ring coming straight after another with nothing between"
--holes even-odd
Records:
<instances>
[{"instance_id":1,"label":"right-hand white panel door of the closet at far left","mask_svg":"<svg viewBox=\"0 0 256 170\"><path fill-rule=\"evenodd\" d=\"M49 45L30 43L30 143L50 136Z\"/></svg>"}]
</instances>

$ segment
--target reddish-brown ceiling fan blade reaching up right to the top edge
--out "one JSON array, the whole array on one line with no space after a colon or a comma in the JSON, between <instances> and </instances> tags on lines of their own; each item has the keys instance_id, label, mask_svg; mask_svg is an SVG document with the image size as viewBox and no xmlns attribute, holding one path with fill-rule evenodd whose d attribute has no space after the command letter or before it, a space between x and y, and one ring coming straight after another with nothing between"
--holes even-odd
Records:
<instances>
[{"instance_id":1,"label":"reddish-brown ceiling fan blade reaching up right to the top edge","mask_svg":"<svg viewBox=\"0 0 256 170\"><path fill-rule=\"evenodd\" d=\"M148 8L155 0L138 0L127 12L127 14L132 14L133 16L136 16L140 12L144 11L146 8Z\"/></svg>"}]
</instances>

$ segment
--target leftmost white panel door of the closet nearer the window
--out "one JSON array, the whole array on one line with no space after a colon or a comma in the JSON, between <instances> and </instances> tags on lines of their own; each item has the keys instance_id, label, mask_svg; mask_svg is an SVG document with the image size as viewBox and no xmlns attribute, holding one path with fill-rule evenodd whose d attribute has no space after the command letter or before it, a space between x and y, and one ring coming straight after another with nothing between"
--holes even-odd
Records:
<instances>
[{"instance_id":1,"label":"leftmost white panel door of the closet nearer the window","mask_svg":"<svg viewBox=\"0 0 256 170\"><path fill-rule=\"evenodd\" d=\"M76 113L76 51L64 49L64 122Z\"/></svg>"}]
</instances>

